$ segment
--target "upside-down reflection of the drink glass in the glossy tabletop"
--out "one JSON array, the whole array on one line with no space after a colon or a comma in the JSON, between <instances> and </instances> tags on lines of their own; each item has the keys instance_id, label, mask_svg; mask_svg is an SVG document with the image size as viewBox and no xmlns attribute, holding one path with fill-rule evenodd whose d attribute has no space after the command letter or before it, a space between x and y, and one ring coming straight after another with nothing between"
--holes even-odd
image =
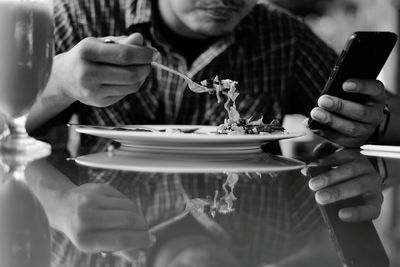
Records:
<instances>
[{"instance_id":1,"label":"upside-down reflection of the drink glass in the glossy tabletop","mask_svg":"<svg viewBox=\"0 0 400 267\"><path fill-rule=\"evenodd\" d=\"M25 170L40 161L29 163L30 159L20 156L15 152L0 153L0 266L50 267L49 221L27 182L28 178L40 177L35 171Z\"/></svg>"}]
</instances>

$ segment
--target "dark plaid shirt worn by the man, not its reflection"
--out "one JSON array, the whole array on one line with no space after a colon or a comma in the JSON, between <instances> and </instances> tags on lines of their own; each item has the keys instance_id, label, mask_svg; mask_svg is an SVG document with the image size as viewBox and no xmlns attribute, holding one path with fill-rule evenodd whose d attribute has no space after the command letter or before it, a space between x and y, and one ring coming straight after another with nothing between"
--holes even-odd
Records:
<instances>
[{"instance_id":1,"label":"dark plaid shirt worn by the man, not its reflection","mask_svg":"<svg viewBox=\"0 0 400 267\"><path fill-rule=\"evenodd\" d=\"M336 54L290 14L256 5L231 34L216 40L188 66L157 34L152 18L154 2L56 0L56 52L68 51L88 36L141 32L148 45L159 49L161 63L193 80L218 75L238 81L237 108L244 118L263 115L269 122L285 114L308 116L316 105ZM227 117L223 103L218 104L214 95L194 94L184 80L158 69L153 69L138 93L107 108L75 103L58 122L65 123L72 113L78 114L80 123L99 125L218 125ZM89 144L90 137L83 138Z\"/></svg>"}]
</instances>

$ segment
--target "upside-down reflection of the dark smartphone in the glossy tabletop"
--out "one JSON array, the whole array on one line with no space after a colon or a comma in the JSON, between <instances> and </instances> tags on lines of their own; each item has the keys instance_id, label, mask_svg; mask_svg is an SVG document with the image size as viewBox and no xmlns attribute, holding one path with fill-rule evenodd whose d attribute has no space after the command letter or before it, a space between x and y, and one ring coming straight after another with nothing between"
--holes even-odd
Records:
<instances>
[{"instance_id":1,"label":"upside-down reflection of the dark smartphone in the glossy tabletop","mask_svg":"<svg viewBox=\"0 0 400 267\"><path fill-rule=\"evenodd\" d=\"M312 178L328 170L310 167L308 176ZM372 221L349 223L339 218L339 210L364 204L363 197L359 196L318 206L343 266L389 267L389 258Z\"/></svg>"}]
</instances>

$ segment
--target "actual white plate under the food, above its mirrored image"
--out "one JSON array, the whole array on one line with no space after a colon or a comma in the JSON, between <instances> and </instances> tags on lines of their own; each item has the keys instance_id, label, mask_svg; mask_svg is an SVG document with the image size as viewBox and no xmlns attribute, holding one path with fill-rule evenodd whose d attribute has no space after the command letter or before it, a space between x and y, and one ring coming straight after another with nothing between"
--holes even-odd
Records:
<instances>
[{"instance_id":1,"label":"actual white plate under the food, above its mirrored image","mask_svg":"<svg viewBox=\"0 0 400 267\"><path fill-rule=\"evenodd\" d=\"M153 129L192 129L199 128L195 133L165 133L120 131L110 127L99 128L77 126L76 131L98 137L109 138L120 142L123 146L137 151L168 151L190 153L248 153L260 150L261 145L271 141L304 136L303 132L273 133L258 135L218 135L216 126L199 125L127 125L124 128L151 127Z\"/></svg>"}]
</instances>

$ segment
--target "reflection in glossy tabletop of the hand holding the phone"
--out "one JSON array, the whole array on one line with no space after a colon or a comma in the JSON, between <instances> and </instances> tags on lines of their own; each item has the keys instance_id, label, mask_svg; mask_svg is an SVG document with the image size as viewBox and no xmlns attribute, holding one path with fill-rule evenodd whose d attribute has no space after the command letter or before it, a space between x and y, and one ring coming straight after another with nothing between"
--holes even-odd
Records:
<instances>
[{"instance_id":1,"label":"reflection in glossy tabletop of the hand holding the phone","mask_svg":"<svg viewBox=\"0 0 400 267\"><path fill-rule=\"evenodd\" d=\"M382 178L378 171L359 150L327 153L334 149L330 144L323 144L315 150L315 154L322 158L311 166L329 167L328 171L309 181L309 187L316 192L316 201L325 205L363 196L365 205L341 209L339 217L346 222L376 219L383 202Z\"/></svg>"}]
</instances>

